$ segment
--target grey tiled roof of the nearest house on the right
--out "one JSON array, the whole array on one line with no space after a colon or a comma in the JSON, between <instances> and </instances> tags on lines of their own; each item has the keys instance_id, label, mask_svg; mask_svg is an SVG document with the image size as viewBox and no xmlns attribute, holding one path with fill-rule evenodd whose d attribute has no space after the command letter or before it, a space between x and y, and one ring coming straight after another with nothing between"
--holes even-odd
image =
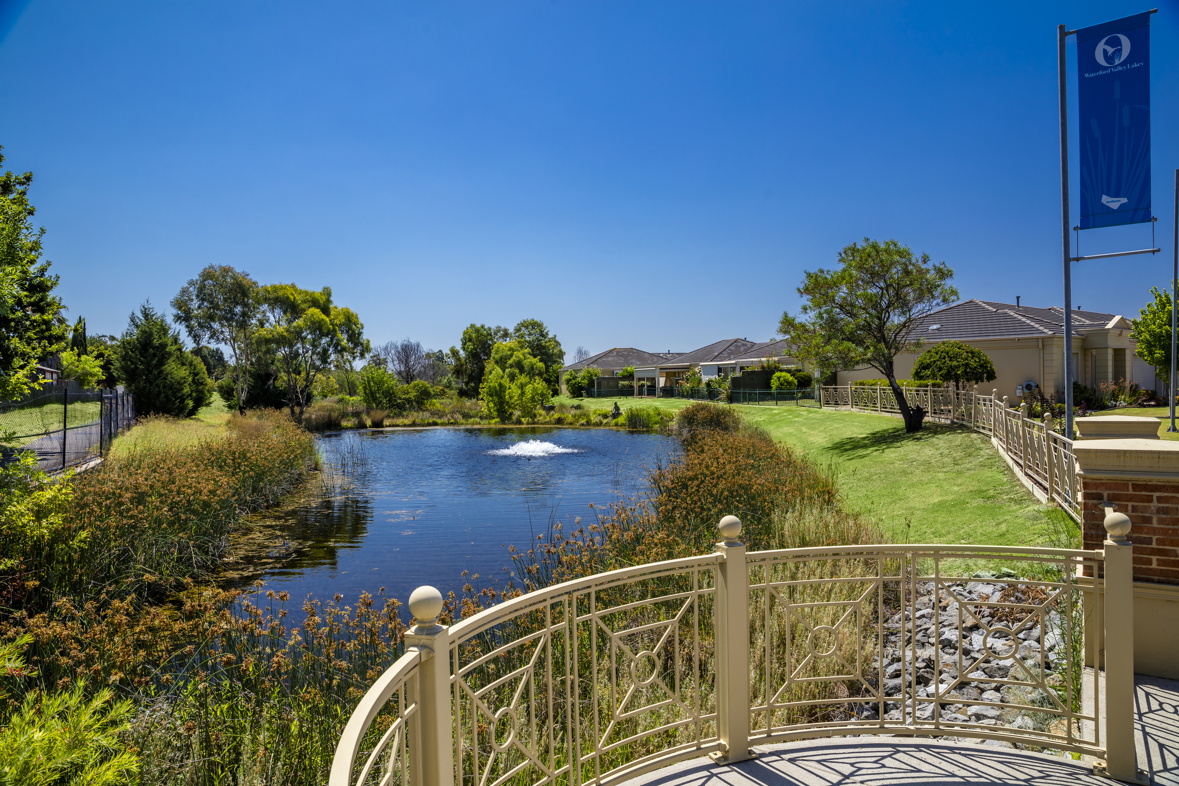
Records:
<instances>
[{"instance_id":1,"label":"grey tiled roof of the nearest house on the right","mask_svg":"<svg viewBox=\"0 0 1179 786\"><path fill-rule=\"evenodd\" d=\"M1114 313L1102 311L1073 311L1073 335L1105 328ZM938 325L935 330L930 326ZM1058 306L1040 309L990 300L963 300L934 311L917 328L916 336L927 341L1021 338L1063 336L1065 310Z\"/></svg>"}]
</instances>

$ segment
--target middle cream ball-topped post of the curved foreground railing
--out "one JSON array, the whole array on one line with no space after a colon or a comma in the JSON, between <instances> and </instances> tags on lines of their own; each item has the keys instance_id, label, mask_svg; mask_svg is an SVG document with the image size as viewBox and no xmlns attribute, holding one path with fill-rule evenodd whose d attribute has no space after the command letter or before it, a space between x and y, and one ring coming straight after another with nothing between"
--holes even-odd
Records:
<instances>
[{"instance_id":1,"label":"middle cream ball-topped post of the curved foreground railing","mask_svg":"<svg viewBox=\"0 0 1179 786\"><path fill-rule=\"evenodd\" d=\"M752 759L749 749L749 568L745 544L737 540L740 520L725 516L717 543L717 737L724 751L709 754L717 764Z\"/></svg>"}]
</instances>

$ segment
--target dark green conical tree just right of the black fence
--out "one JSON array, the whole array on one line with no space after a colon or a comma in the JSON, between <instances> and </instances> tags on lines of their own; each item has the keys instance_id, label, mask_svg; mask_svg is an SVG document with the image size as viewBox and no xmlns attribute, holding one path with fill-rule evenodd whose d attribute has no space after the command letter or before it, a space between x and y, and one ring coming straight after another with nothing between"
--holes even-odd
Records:
<instances>
[{"instance_id":1,"label":"dark green conical tree just right of the black fence","mask_svg":"<svg viewBox=\"0 0 1179 786\"><path fill-rule=\"evenodd\" d=\"M169 328L151 303L144 303L138 313L131 313L119 341L116 370L134 394L138 415L189 415L193 383L185 355L180 335ZM204 365L200 370L204 371Z\"/></svg>"}]
</instances>

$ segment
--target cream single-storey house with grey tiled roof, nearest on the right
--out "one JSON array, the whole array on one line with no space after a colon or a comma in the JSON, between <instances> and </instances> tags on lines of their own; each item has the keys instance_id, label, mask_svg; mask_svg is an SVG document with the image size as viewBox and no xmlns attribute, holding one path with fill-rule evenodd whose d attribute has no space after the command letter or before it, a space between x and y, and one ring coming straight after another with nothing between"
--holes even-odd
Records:
<instances>
[{"instance_id":1,"label":"cream single-storey house with grey tiled roof, nearest on the right","mask_svg":"<svg viewBox=\"0 0 1179 786\"><path fill-rule=\"evenodd\" d=\"M956 339L984 351L995 364L995 381L979 385L989 394L997 390L1019 402L1028 382L1046 391L1065 391L1065 311L990 300L963 300L930 313L917 333L926 349ZM1073 311L1074 378L1091 388L1101 382L1125 379L1147 390L1162 390L1154 369L1134 355L1129 321L1102 311ZM898 379L911 378L917 354L896 358ZM883 375L870 366L839 371L838 384L876 379Z\"/></svg>"}]
</instances>

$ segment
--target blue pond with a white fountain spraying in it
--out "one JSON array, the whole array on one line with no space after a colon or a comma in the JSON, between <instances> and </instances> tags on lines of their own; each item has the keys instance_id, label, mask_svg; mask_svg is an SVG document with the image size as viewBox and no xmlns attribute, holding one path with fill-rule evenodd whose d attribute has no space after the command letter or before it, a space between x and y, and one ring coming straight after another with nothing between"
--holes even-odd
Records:
<instances>
[{"instance_id":1,"label":"blue pond with a white fountain spraying in it","mask_svg":"<svg viewBox=\"0 0 1179 786\"><path fill-rule=\"evenodd\" d=\"M225 584L261 579L292 600L360 593L402 601L421 584L506 583L508 546L527 549L556 521L646 489L674 437L614 429L430 428L320 437L328 470L256 515L256 546ZM335 469L331 469L331 468ZM276 546L282 543L282 546Z\"/></svg>"}]
</instances>

